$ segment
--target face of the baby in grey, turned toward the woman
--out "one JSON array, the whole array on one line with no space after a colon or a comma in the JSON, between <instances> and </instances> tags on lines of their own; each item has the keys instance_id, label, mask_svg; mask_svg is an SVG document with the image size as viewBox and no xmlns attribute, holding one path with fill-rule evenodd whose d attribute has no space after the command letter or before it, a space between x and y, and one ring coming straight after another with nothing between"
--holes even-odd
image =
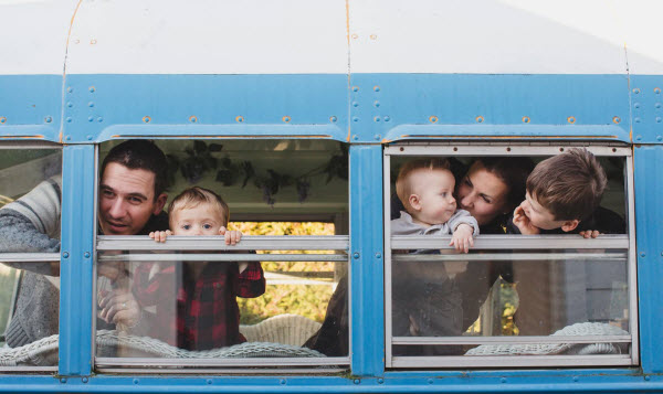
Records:
<instances>
[{"instance_id":1,"label":"face of the baby in grey, turned toward the woman","mask_svg":"<svg viewBox=\"0 0 663 394\"><path fill-rule=\"evenodd\" d=\"M409 213L412 219L425 225L446 223L456 209L455 179L451 171L419 169L410 177L413 193L409 202L413 212Z\"/></svg>"}]
</instances>

